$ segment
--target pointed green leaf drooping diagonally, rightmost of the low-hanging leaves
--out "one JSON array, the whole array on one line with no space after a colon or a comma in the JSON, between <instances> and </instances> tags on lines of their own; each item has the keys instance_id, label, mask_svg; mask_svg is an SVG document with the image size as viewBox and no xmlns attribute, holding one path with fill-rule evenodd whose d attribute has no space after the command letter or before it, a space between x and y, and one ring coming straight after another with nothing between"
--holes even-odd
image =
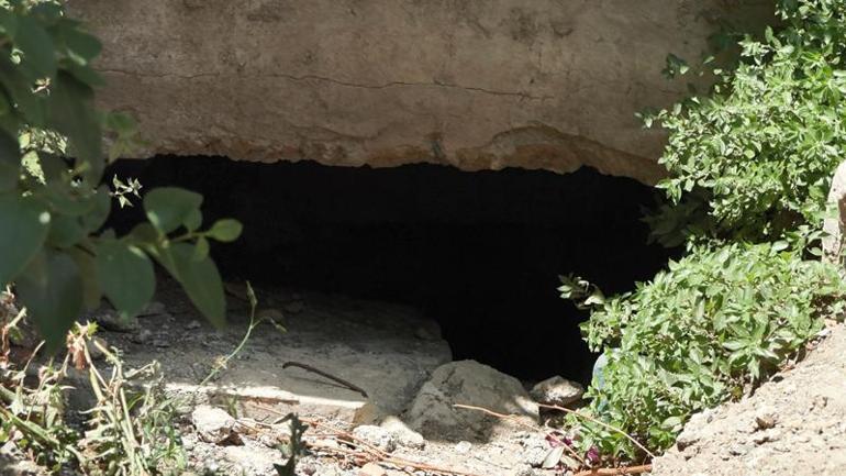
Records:
<instances>
[{"instance_id":1,"label":"pointed green leaf drooping diagonally, rightmost of the low-hanging leaves","mask_svg":"<svg viewBox=\"0 0 846 476\"><path fill-rule=\"evenodd\" d=\"M188 243L156 246L153 255L179 284L188 298L214 325L221 328L226 319L223 280L211 258L194 261L194 247Z\"/></svg>"}]
</instances>

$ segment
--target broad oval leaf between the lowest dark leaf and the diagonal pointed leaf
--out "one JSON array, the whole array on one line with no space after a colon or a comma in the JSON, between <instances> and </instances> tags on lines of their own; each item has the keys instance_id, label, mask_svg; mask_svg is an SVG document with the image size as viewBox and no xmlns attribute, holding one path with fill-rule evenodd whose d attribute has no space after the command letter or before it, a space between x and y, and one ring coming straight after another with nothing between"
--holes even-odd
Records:
<instances>
[{"instance_id":1,"label":"broad oval leaf between the lowest dark leaf and the diagonal pointed leaf","mask_svg":"<svg viewBox=\"0 0 846 476\"><path fill-rule=\"evenodd\" d=\"M103 240L97 244L94 263L100 289L124 317L137 314L153 299L153 263L138 247Z\"/></svg>"}]
</instances>

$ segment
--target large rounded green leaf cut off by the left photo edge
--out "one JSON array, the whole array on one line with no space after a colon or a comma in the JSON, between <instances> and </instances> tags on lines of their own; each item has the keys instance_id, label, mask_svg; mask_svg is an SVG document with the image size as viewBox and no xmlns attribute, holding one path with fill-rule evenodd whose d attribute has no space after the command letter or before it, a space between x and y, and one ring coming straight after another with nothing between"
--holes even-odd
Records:
<instances>
[{"instance_id":1,"label":"large rounded green leaf cut off by the left photo edge","mask_svg":"<svg viewBox=\"0 0 846 476\"><path fill-rule=\"evenodd\" d=\"M51 215L36 200L0 195L0 285L11 283L44 245Z\"/></svg>"}]
</instances>

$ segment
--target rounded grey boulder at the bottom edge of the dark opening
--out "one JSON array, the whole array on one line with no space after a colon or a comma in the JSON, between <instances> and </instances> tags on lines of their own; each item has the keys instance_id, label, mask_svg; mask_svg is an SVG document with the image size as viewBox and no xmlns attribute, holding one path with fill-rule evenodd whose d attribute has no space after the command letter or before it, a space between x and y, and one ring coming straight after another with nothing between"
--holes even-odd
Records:
<instances>
[{"instance_id":1,"label":"rounded grey boulder at the bottom edge of the dark opening","mask_svg":"<svg viewBox=\"0 0 846 476\"><path fill-rule=\"evenodd\" d=\"M476 361L442 365L420 389L405 416L409 425L430 440L487 440L508 422L465 405L490 410L526 424L538 419L537 403L514 377Z\"/></svg>"}]
</instances>

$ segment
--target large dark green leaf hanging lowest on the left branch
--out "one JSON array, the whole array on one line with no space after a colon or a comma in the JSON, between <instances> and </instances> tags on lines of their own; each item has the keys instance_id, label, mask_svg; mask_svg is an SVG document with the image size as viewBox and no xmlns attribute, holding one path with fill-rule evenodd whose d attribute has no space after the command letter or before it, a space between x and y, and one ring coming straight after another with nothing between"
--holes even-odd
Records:
<instances>
[{"instance_id":1,"label":"large dark green leaf hanging lowest on the left branch","mask_svg":"<svg viewBox=\"0 0 846 476\"><path fill-rule=\"evenodd\" d=\"M15 290L46 341L47 351L58 350L82 309L77 264L65 253L45 250L18 278Z\"/></svg>"}]
</instances>

